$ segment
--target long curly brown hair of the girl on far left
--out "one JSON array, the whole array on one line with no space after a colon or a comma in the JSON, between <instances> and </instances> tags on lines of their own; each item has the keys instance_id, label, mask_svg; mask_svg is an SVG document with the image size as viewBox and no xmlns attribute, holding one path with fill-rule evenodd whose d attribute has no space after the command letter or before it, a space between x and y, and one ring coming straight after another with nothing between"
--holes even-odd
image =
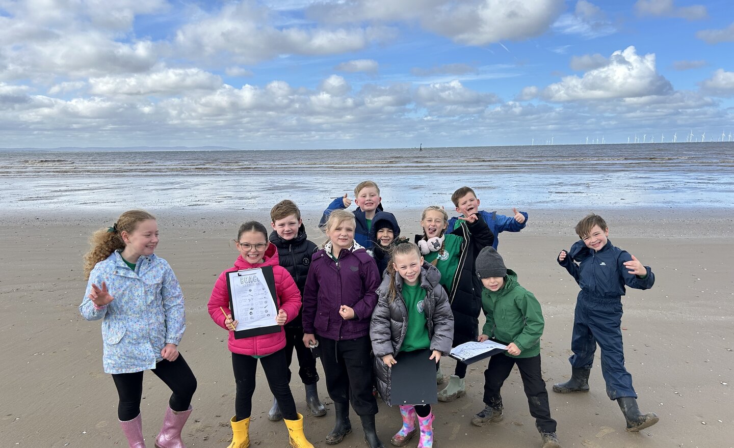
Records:
<instances>
[{"instance_id":1,"label":"long curly brown hair of the girl on far left","mask_svg":"<svg viewBox=\"0 0 734 448\"><path fill-rule=\"evenodd\" d=\"M122 232L132 233L138 224L148 219L155 220L156 217L145 210L128 210L112 227L103 227L92 233L90 237L90 251L84 254L84 278L90 278L90 272L94 266L109 257L109 254L117 250L125 249L125 241L120 236Z\"/></svg>"}]
</instances>

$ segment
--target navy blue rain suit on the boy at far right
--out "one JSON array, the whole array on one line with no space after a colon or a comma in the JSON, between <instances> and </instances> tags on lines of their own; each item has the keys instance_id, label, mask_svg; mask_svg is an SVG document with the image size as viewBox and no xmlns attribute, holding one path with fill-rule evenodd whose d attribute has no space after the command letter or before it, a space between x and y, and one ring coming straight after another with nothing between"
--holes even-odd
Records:
<instances>
[{"instance_id":1,"label":"navy blue rain suit on the boy at far right","mask_svg":"<svg viewBox=\"0 0 734 448\"><path fill-rule=\"evenodd\" d=\"M645 266L647 276L644 279L628 273L624 263L631 260L632 256L627 251L612 246L609 240L599 251L589 249L583 240L579 240L571 246L565 260L559 261L559 265L566 268L581 287L576 298L571 337L573 355L569 361L574 368L591 369L596 345L599 344L601 371L610 400L637 397L632 387L632 375L625 369L622 348L625 284L647 290L655 283L655 274L650 266Z\"/></svg>"}]
</instances>

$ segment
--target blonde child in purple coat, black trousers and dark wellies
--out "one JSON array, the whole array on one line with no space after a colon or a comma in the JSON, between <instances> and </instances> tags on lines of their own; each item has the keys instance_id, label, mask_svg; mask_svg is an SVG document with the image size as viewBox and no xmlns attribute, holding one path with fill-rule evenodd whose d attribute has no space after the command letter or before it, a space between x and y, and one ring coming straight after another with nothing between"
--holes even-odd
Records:
<instances>
[{"instance_id":1,"label":"blonde child in purple coat, black trousers and dark wellies","mask_svg":"<svg viewBox=\"0 0 734 448\"><path fill-rule=\"evenodd\" d=\"M362 419L370 448L384 447L374 427L369 321L377 303L379 273L372 257L355 241L355 216L334 210L326 223L329 240L313 255L303 292L303 343L319 346L326 386L334 400L336 425L327 444L352 432L349 401Z\"/></svg>"}]
</instances>

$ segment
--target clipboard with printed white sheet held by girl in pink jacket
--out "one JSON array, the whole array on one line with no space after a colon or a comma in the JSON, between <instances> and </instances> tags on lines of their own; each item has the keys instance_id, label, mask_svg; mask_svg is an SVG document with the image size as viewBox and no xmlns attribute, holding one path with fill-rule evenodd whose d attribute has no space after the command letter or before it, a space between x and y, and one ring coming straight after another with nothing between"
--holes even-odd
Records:
<instances>
[{"instance_id":1,"label":"clipboard with printed white sheet held by girl in pink jacket","mask_svg":"<svg viewBox=\"0 0 734 448\"><path fill-rule=\"evenodd\" d=\"M265 280L265 286L259 281L260 275ZM257 278L258 282L254 282L253 279ZM247 282L245 282L247 280ZM255 293L250 295L250 290L244 290L244 288L249 287L250 284L258 283L257 289ZM245 337L253 337L253 336L260 336L261 334L271 334L271 333L279 333L282 331L282 327L277 325L275 323L275 316L277 316L277 295L275 293L275 276L273 276L273 268L272 266L262 266L261 268L252 268L252 269L244 269L242 271L231 271L227 273L227 293L229 295L229 303L230 303L230 310L232 312L232 319L233 320L240 320L238 318L236 309L240 309L240 305L243 305L247 303L248 298L250 297L256 297L256 301L259 302L257 308L258 309L251 309L250 315L257 315L258 317L261 317L260 322L255 322L253 324L247 324L244 323L245 319L243 317L242 322L238 323L239 326L245 326L250 328L245 328L241 330L234 331L234 338L235 339L243 339ZM253 299L255 300L255 299ZM235 301L238 301L238 304L234 303ZM272 301L272 304L270 303ZM271 307L272 305L272 307ZM268 315L267 312L273 312L275 310L274 314L272 316ZM260 312L261 314L258 314ZM239 312L240 316L242 317L242 312ZM263 321L270 320L270 324L262 324Z\"/></svg>"}]
</instances>

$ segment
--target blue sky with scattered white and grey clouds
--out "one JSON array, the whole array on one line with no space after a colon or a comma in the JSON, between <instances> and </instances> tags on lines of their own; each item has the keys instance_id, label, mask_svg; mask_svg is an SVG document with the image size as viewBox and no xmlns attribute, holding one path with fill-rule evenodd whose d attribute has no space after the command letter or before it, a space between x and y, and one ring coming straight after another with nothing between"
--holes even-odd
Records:
<instances>
[{"instance_id":1,"label":"blue sky with scattered white and grey clouds","mask_svg":"<svg viewBox=\"0 0 734 448\"><path fill-rule=\"evenodd\" d=\"M2 147L734 133L731 0L0 0Z\"/></svg>"}]
</instances>

